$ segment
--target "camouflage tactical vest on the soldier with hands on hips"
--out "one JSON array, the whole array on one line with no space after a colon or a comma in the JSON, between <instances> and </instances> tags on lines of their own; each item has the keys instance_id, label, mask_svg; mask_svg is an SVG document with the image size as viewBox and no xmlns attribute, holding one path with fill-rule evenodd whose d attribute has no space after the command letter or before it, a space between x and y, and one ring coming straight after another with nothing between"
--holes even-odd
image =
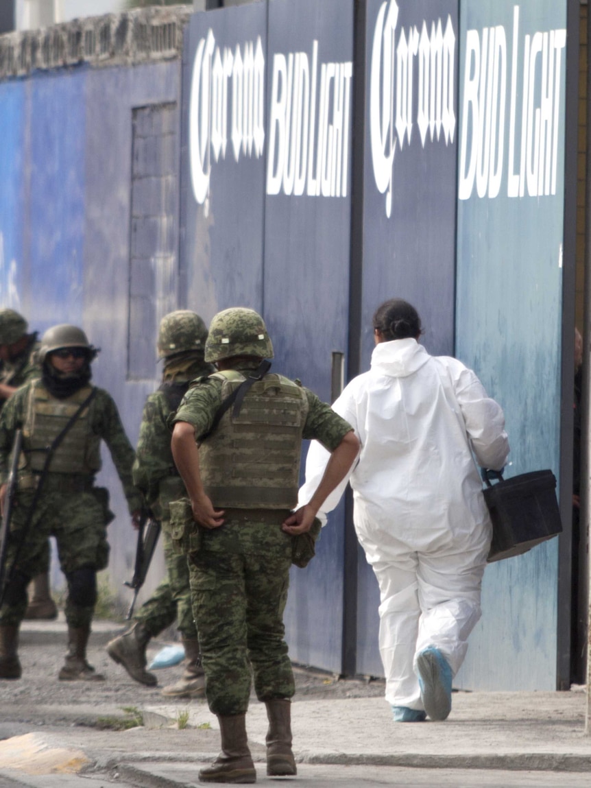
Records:
<instances>
[{"instance_id":1,"label":"camouflage tactical vest on the soldier with hands on hips","mask_svg":"<svg viewBox=\"0 0 591 788\"><path fill-rule=\"evenodd\" d=\"M223 381L222 401L246 379L236 370L211 377ZM206 495L214 507L294 508L306 392L287 377L269 374L251 386L236 418L232 410L199 446Z\"/></svg>"}]
</instances>

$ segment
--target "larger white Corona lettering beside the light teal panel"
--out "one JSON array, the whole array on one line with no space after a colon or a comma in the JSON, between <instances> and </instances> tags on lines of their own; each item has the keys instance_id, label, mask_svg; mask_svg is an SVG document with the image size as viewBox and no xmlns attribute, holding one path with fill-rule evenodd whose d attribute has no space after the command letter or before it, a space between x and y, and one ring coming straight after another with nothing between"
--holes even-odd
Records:
<instances>
[{"instance_id":1,"label":"larger white Corona lettering beside the light teal panel","mask_svg":"<svg viewBox=\"0 0 591 788\"><path fill-rule=\"evenodd\" d=\"M455 32L452 19L444 25L425 21L421 32L397 30L396 0L380 6L374 29L370 64L370 147L377 190L386 195L386 216L392 214L394 155L411 145L414 118L422 147L430 140L455 134ZM417 104L413 106L416 80Z\"/></svg>"}]
</instances>

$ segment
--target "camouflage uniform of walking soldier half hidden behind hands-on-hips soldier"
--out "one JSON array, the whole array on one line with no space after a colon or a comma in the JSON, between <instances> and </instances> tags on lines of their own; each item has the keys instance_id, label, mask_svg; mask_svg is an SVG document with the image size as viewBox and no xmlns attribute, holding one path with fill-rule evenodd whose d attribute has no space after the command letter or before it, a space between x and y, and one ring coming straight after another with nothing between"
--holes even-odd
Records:
<instances>
[{"instance_id":1,"label":"camouflage uniform of walking soldier half hidden behind hands-on-hips soldier","mask_svg":"<svg viewBox=\"0 0 591 788\"><path fill-rule=\"evenodd\" d=\"M169 503L183 496L185 491L174 466L166 420L176 411L190 381L210 372L210 364L203 360L192 362L186 373L175 374L173 382L167 385L165 381L157 392L148 396L143 408L133 481L142 490L154 517L161 522L166 563L166 578L134 616L151 637L178 620L178 629L185 639L197 638L191 610L187 556L175 552L170 541ZM167 388L171 390L167 392Z\"/></svg>"}]
</instances>

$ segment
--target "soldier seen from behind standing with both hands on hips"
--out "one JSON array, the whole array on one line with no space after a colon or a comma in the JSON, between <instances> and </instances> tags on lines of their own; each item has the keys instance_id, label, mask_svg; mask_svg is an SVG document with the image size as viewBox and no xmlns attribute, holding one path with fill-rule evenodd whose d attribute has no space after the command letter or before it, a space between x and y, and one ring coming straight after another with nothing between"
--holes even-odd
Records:
<instances>
[{"instance_id":1,"label":"soldier seen from behind standing with both hands on hips","mask_svg":"<svg viewBox=\"0 0 591 788\"><path fill-rule=\"evenodd\" d=\"M295 685L283 624L292 537L310 530L359 448L329 405L298 381L266 374L263 359L270 358L273 345L255 311L218 313L205 350L218 372L195 381L170 420L188 492L171 504L173 537L188 545L206 697L221 730L221 753L199 772L203 782L256 780L245 719L251 670L269 719L267 774L296 774ZM215 426L222 401L240 387ZM303 438L320 440L332 455L310 504L292 512Z\"/></svg>"}]
</instances>

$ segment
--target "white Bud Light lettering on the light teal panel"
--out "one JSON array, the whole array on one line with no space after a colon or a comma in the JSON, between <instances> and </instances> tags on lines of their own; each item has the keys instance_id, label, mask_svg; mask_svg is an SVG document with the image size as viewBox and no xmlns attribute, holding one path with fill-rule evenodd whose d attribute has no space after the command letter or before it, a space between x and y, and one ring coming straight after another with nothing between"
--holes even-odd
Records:
<instances>
[{"instance_id":1,"label":"white Bud Light lettering on the light teal panel","mask_svg":"<svg viewBox=\"0 0 591 788\"><path fill-rule=\"evenodd\" d=\"M470 199L474 185L478 197L499 195L505 166L508 197L556 195L567 32L559 28L520 37L519 6L514 6L510 40L509 72L503 26L466 32L459 199Z\"/></svg>"}]
</instances>

